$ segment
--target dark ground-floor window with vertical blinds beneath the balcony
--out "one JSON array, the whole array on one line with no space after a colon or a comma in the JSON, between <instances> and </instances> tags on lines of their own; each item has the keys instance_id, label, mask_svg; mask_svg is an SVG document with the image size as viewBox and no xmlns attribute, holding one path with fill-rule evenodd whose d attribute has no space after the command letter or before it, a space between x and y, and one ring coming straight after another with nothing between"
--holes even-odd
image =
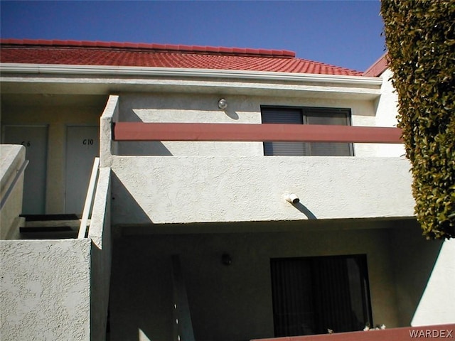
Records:
<instances>
[{"instance_id":1,"label":"dark ground-floor window with vertical blinds beneath the balcony","mask_svg":"<svg viewBox=\"0 0 455 341\"><path fill-rule=\"evenodd\" d=\"M275 337L373 325L365 255L271 259Z\"/></svg>"}]
</instances>

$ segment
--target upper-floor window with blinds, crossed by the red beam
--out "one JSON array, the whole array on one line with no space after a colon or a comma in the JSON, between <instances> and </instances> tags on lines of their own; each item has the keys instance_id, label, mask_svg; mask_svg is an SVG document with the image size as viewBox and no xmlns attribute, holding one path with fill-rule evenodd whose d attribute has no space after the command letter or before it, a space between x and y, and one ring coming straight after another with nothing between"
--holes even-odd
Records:
<instances>
[{"instance_id":1,"label":"upper-floor window with blinds, crossed by the red beam","mask_svg":"<svg viewBox=\"0 0 455 341\"><path fill-rule=\"evenodd\" d=\"M262 123L350 125L350 109L262 107ZM264 155L275 156L353 156L353 145L346 143L264 142Z\"/></svg>"}]
</instances>

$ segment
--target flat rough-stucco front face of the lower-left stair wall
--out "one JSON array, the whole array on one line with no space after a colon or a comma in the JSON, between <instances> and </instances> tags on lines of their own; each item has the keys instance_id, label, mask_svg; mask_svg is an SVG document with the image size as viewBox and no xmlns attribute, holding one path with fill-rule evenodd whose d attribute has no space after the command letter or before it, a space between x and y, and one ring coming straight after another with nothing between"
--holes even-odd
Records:
<instances>
[{"instance_id":1,"label":"flat rough-stucco front face of the lower-left stair wall","mask_svg":"<svg viewBox=\"0 0 455 341\"><path fill-rule=\"evenodd\" d=\"M0 242L1 340L90 340L90 239Z\"/></svg>"}]
</instances>

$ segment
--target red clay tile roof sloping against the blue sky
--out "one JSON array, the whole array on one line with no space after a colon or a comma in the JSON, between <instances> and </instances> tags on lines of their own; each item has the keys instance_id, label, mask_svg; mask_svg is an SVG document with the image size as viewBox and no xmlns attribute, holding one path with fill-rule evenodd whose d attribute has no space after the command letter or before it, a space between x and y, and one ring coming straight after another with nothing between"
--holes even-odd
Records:
<instances>
[{"instance_id":1,"label":"red clay tile roof sloping against the blue sky","mask_svg":"<svg viewBox=\"0 0 455 341\"><path fill-rule=\"evenodd\" d=\"M360 76L362 72L295 57L288 50L107 43L76 40L0 40L1 63L178 67Z\"/></svg>"}]
</instances>

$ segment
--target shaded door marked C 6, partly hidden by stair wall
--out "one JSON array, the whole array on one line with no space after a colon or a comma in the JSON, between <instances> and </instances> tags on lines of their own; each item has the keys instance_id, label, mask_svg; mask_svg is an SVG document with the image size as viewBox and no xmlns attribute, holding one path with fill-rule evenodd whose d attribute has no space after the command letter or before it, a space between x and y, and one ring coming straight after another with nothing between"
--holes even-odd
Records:
<instances>
[{"instance_id":1,"label":"shaded door marked C 6, partly hidden by stair wall","mask_svg":"<svg viewBox=\"0 0 455 341\"><path fill-rule=\"evenodd\" d=\"M4 143L26 147L28 166L23 180L22 213L45 214L48 126L4 126Z\"/></svg>"}]
</instances>

